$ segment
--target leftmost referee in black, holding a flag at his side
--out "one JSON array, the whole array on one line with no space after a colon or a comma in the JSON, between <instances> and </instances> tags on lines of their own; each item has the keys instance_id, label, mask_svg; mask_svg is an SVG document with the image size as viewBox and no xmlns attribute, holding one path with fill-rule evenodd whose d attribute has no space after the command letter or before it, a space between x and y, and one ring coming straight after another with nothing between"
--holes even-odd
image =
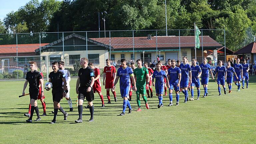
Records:
<instances>
[{"instance_id":1,"label":"leftmost referee in black, holding a flag at his side","mask_svg":"<svg viewBox=\"0 0 256 144\"><path fill-rule=\"evenodd\" d=\"M37 107L37 97L39 94L39 82L41 83L41 97L44 97L44 91L43 91L43 77L41 76L40 72L36 71L36 62L30 61L29 62L31 71L27 72L26 75L26 81L23 86L22 95L25 94L25 89L29 83L29 96L30 96L30 104L31 104L31 114L28 120L26 120L28 123L32 123L32 117L34 114L34 110L36 111L37 119L35 121L40 121L41 118L39 116L39 110Z\"/></svg>"}]
</instances>

